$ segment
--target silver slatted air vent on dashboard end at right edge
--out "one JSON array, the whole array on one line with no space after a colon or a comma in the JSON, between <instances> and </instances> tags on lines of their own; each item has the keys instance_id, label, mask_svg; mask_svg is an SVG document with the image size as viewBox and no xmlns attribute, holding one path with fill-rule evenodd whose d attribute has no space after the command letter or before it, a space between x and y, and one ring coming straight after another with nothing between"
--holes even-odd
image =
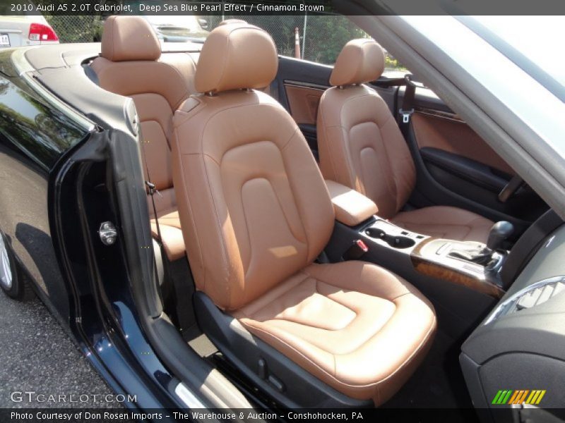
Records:
<instances>
[{"instance_id":1,"label":"silver slatted air vent on dashboard end at right edge","mask_svg":"<svg viewBox=\"0 0 565 423\"><path fill-rule=\"evenodd\" d=\"M530 309L564 292L565 276L556 276L532 283L530 286L519 290L508 300L505 300L501 305L496 307L484 324L489 324L491 321L505 316L506 314L520 312L523 309Z\"/></svg>"}]
</instances>

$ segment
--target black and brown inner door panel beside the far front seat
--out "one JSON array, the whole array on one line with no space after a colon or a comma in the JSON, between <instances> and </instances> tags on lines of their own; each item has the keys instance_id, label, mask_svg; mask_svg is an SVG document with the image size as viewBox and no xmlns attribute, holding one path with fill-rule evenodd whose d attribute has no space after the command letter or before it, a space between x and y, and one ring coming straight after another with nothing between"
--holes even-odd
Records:
<instances>
[{"instance_id":1,"label":"black and brown inner door panel beside the far front seat","mask_svg":"<svg viewBox=\"0 0 565 423\"><path fill-rule=\"evenodd\" d=\"M411 204L468 209L493 221L511 221L517 233L547 210L528 186L499 201L499 192L515 172L430 90L417 89L414 109L407 140L417 167Z\"/></svg>"}]
</instances>

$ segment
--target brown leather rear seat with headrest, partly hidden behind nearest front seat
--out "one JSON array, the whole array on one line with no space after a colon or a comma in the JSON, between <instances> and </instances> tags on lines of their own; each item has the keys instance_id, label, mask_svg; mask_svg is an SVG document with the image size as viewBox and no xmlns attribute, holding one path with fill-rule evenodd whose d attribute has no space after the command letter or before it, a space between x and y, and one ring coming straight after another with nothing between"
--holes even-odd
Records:
<instances>
[{"instance_id":1,"label":"brown leather rear seat with headrest, partly hidden behind nearest front seat","mask_svg":"<svg viewBox=\"0 0 565 423\"><path fill-rule=\"evenodd\" d=\"M131 97L141 123L143 153L150 180L159 191L155 209L169 260L184 257L177 202L172 185L172 116L194 91L196 63L189 54L161 55L155 32L138 16L110 16L102 34L102 54L91 64L105 90ZM145 175L148 178L148 175ZM157 237L148 197L151 229Z\"/></svg>"}]
</instances>

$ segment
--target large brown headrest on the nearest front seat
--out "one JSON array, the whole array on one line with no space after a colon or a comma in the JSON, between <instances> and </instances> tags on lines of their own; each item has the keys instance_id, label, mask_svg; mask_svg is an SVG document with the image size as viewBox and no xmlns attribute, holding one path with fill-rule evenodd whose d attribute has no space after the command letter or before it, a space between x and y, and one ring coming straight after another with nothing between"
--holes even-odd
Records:
<instances>
[{"instance_id":1,"label":"large brown headrest on the nearest front seat","mask_svg":"<svg viewBox=\"0 0 565 423\"><path fill-rule=\"evenodd\" d=\"M275 42L266 31L248 23L215 28L204 43L194 85L198 92L264 88L275 79Z\"/></svg>"}]
</instances>

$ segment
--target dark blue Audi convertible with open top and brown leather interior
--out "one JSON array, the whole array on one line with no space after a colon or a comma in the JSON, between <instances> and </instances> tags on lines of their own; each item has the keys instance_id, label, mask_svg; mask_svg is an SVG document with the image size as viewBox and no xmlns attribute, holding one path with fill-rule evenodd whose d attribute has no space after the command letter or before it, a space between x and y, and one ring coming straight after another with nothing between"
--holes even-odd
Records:
<instances>
[{"instance_id":1,"label":"dark blue Audi convertible with open top and brown leather interior","mask_svg":"<svg viewBox=\"0 0 565 423\"><path fill-rule=\"evenodd\" d=\"M0 52L0 285L133 410L565 407L563 22L374 7L333 66L253 16Z\"/></svg>"}]
</instances>

